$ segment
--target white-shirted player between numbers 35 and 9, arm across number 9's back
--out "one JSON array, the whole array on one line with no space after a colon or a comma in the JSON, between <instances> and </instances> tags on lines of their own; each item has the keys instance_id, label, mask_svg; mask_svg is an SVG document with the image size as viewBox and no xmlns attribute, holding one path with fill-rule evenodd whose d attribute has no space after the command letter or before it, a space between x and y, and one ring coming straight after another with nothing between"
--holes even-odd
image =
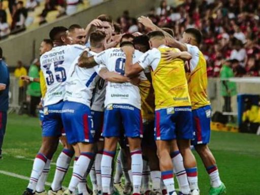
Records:
<instances>
[{"instance_id":1,"label":"white-shirted player between numbers 35 and 9, arm across number 9's back","mask_svg":"<svg viewBox=\"0 0 260 195\"><path fill-rule=\"evenodd\" d=\"M90 51L88 55L96 55L105 49L106 35L104 32L96 31L90 34ZM85 53L85 52L84 52ZM80 56L79 56L80 57ZM79 147L80 156L73 169L73 176L68 190L63 194L69 195L75 192L77 185L86 176L85 173L94 157L93 144L94 134L93 118L90 111L93 89L99 80L98 75L110 82L127 82L128 78L108 72L106 68L96 66L91 69L80 68L77 66L78 59L75 60L75 66L71 68L69 78L66 82L66 95L64 106L62 108L62 121L66 130L67 138L74 147ZM98 133L98 132L97 132ZM85 194L85 191L79 191Z\"/></svg>"}]
</instances>

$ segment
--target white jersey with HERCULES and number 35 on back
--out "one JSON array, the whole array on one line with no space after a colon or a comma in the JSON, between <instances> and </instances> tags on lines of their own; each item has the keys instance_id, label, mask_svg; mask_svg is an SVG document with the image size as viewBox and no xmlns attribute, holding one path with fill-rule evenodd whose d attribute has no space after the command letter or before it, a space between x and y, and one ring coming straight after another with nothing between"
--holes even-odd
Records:
<instances>
[{"instance_id":1,"label":"white jersey with HERCULES and number 35 on back","mask_svg":"<svg viewBox=\"0 0 260 195\"><path fill-rule=\"evenodd\" d=\"M56 104L63 100L65 81L70 67L84 48L81 45L57 46L41 56L41 70L47 86L44 106Z\"/></svg>"}]
</instances>

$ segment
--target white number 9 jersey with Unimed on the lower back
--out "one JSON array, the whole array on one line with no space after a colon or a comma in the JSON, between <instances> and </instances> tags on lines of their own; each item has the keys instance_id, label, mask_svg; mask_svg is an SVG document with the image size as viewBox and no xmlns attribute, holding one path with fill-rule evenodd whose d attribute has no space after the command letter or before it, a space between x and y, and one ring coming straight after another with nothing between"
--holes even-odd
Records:
<instances>
[{"instance_id":1,"label":"white number 9 jersey with Unimed on the lower back","mask_svg":"<svg viewBox=\"0 0 260 195\"><path fill-rule=\"evenodd\" d=\"M133 63L137 62L143 53L135 50ZM125 54L120 48L111 48L106 51L104 61L107 69L111 72L117 72L124 75ZM141 73L140 79L146 80L144 73ZM108 82L106 88L105 106L108 104L129 104L141 109L141 96L139 87L130 83L112 83Z\"/></svg>"}]
</instances>

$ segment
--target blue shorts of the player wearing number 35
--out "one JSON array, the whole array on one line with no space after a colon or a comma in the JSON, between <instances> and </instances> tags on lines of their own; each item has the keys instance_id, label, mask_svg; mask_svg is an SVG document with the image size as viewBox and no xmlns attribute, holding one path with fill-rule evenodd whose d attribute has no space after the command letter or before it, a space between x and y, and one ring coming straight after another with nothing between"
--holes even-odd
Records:
<instances>
[{"instance_id":1,"label":"blue shorts of the player wearing number 35","mask_svg":"<svg viewBox=\"0 0 260 195\"><path fill-rule=\"evenodd\" d=\"M63 102L45 106L43 109L44 117L42 121L43 137L59 137L61 136L62 120L61 110Z\"/></svg>"}]
</instances>

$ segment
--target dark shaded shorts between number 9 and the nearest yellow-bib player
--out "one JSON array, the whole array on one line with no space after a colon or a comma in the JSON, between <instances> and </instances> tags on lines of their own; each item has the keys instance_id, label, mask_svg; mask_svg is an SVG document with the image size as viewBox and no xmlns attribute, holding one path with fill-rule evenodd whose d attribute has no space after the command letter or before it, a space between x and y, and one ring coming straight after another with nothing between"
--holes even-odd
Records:
<instances>
[{"instance_id":1,"label":"dark shaded shorts between number 9 and the nearest yellow-bib player","mask_svg":"<svg viewBox=\"0 0 260 195\"><path fill-rule=\"evenodd\" d=\"M156 148L154 141L154 120L143 123L142 147Z\"/></svg>"}]
</instances>

